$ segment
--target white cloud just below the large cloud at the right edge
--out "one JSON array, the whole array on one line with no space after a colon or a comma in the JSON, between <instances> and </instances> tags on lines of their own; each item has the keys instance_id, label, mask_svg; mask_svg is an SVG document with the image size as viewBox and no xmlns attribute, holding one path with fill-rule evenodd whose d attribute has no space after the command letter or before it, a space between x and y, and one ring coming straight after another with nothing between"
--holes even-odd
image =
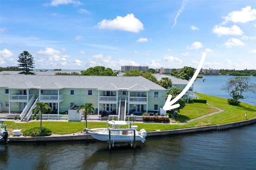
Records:
<instances>
[{"instance_id":1,"label":"white cloud just below the large cloud at the right edge","mask_svg":"<svg viewBox=\"0 0 256 170\"><path fill-rule=\"evenodd\" d=\"M217 34L218 36L221 36L221 35L240 36L240 35L244 34L244 32L236 25L231 26L231 28L216 25L213 27L212 32L214 34Z\"/></svg>"}]
</instances>

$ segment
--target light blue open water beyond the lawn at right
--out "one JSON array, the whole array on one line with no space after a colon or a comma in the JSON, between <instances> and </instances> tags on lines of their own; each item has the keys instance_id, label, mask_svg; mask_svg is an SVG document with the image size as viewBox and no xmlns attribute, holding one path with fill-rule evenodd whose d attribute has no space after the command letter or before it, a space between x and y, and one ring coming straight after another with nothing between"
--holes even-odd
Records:
<instances>
[{"instance_id":1,"label":"light blue open water beyond the lawn at right","mask_svg":"<svg viewBox=\"0 0 256 170\"><path fill-rule=\"evenodd\" d=\"M212 95L222 98L231 98L228 94L228 91L222 91L222 86L228 81L228 79L237 77L237 76L220 76L220 75L204 75L205 81L196 80L193 85L194 92L203 93L206 95ZM249 77L250 83L256 83L256 77ZM243 94L244 97L247 93ZM239 101L244 103L249 103L251 105L256 105L256 93L251 93L250 96L246 99L240 99Z\"/></svg>"}]
</instances>

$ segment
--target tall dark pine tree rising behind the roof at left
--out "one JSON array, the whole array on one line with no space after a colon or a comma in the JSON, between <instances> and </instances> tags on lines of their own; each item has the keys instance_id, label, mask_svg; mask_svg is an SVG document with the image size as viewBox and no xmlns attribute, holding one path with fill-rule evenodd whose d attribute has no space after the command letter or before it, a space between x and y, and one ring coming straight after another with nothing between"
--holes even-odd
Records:
<instances>
[{"instance_id":1,"label":"tall dark pine tree rising behind the roof at left","mask_svg":"<svg viewBox=\"0 0 256 170\"><path fill-rule=\"evenodd\" d=\"M23 51L18 57L18 67L21 67L22 72L19 74L35 74L32 71L34 68L34 58L28 51Z\"/></svg>"}]
</instances>

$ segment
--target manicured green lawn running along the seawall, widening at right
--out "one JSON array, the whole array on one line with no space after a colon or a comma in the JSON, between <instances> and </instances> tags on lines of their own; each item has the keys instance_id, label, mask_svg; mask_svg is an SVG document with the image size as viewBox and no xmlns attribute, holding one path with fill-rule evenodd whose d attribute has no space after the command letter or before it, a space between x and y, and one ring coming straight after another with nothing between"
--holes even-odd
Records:
<instances>
[{"instance_id":1,"label":"manicured green lawn running along the seawall, widening at right","mask_svg":"<svg viewBox=\"0 0 256 170\"><path fill-rule=\"evenodd\" d=\"M206 118L202 118L196 121L192 121L190 123L186 123L184 125L171 125L171 124L158 124L158 123L136 123L133 125L137 125L138 129L144 128L146 131L154 131L154 130L169 130L169 129L177 129L177 128L188 128L188 127L198 127L205 125L216 125L222 123L230 123L235 121L241 121L245 119L245 113L247 112L247 119L256 117L256 106L241 103L240 106L232 106L228 105L227 99L220 97L213 97L209 95L204 95L197 93L200 98L206 99L207 103L218 107L224 112L216 113L214 115L208 116ZM202 115L206 115L212 112L215 112L216 109L210 105L203 103L188 103L186 107L182 109L182 111L177 115L177 122L183 122L186 120L194 119L196 117L200 117ZM40 126L40 121L28 122L28 123L14 123L12 121L5 121L4 123L7 125L10 133L14 129L22 129L24 132L27 128L33 128ZM60 121L43 121L42 126L49 128L53 133L56 134L69 134L74 132L82 131L85 128L85 122L60 122ZM98 128L98 127L106 127L107 124L105 122L88 122L88 128Z\"/></svg>"}]
</instances>

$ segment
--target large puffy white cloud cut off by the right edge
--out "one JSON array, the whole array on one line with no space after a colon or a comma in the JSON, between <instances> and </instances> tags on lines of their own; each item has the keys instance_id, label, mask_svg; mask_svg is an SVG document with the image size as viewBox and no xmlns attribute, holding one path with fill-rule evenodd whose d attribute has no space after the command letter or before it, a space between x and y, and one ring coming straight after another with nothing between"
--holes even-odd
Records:
<instances>
[{"instance_id":1,"label":"large puffy white cloud cut off by the right edge","mask_svg":"<svg viewBox=\"0 0 256 170\"><path fill-rule=\"evenodd\" d=\"M245 8L242 8L241 11L232 11L228 16L224 16L222 18L225 20L223 24L226 24L229 21L234 23L254 21L256 20L256 9L251 9L251 6L246 6Z\"/></svg>"}]
</instances>

